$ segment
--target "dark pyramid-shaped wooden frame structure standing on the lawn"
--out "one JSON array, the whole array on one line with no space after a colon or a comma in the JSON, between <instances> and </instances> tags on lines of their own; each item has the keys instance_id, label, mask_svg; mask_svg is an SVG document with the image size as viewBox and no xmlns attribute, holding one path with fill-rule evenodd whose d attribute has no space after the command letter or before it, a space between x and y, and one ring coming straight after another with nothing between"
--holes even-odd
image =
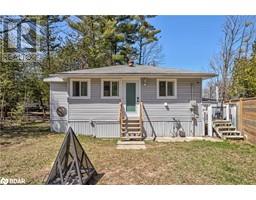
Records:
<instances>
[{"instance_id":1,"label":"dark pyramid-shaped wooden frame structure standing on the lawn","mask_svg":"<svg viewBox=\"0 0 256 200\"><path fill-rule=\"evenodd\" d=\"M46 184L88 184L97 172L70 127Z\"/></svg>"}]
</instances>

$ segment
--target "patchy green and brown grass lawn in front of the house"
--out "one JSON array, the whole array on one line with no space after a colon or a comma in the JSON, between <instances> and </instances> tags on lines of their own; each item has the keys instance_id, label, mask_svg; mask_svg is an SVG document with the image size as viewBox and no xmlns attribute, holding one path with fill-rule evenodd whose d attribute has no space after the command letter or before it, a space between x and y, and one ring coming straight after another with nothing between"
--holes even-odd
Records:
<instances>
[{"instance_id":1,"label":"patchy green and brown grass lawn in front of the house","mask_svg":"<svg viewBox=\"0 0 256 200\"><path fill-rule=\"evenodd\" d=\"M117 140L78 137L98 184L256 184L256 146L246 142L146 142L146 150L117 150ZM0 177L42 184L64 134L37 123L0 134Z\"/></svg>"}]
</instances>

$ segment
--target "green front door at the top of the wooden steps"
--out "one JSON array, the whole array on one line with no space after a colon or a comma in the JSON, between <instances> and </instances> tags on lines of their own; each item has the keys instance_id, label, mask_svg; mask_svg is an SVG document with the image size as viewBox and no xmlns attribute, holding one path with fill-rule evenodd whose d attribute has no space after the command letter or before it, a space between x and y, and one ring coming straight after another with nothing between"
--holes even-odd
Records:
<instances>
[{"instance_id":1,"label":"green front door at the top of the wooden steps","mask_svg":"<svg viewBox=\"0 0 256 200\"><path fill-rule=\"evenodd\" d=\"M126 111L136 111L136 83L126 83Z\"/></svg>"}]
</instances>

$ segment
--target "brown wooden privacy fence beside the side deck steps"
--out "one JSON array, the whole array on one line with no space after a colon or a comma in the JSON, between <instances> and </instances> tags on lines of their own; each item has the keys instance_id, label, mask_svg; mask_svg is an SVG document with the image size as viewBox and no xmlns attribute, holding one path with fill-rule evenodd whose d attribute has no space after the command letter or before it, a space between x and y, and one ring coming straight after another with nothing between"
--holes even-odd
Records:
<instances>
[{"instance_id":1,"label":"brown wooden privacy fence beside the side deck steps","mask_svg":"<svg viewBox=\"0 0 256 200\"><path fill-rule=\"evenodd\" d=\"M256 97L231 99L226 103L237 106L237 128L256 143Z\"/></svg>"}]
</instances>

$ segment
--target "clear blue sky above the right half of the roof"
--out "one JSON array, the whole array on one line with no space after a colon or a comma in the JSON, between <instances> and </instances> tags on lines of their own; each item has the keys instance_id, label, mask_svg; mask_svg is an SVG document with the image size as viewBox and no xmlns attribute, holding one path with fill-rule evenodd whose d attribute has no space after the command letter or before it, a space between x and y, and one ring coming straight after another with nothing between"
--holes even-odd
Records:
<instances>
[{"instance_id":1,"label":"clear blue sky above the right half of the roof","mask_svg":"<svg viewBox=\"0 0 256 200\"><path fill-rule=\"evenodd\" d=\"M161 30L162 66L209 71L217 53L225 16L157 16L150 22Z\"/></svg>"}]
</instances>

